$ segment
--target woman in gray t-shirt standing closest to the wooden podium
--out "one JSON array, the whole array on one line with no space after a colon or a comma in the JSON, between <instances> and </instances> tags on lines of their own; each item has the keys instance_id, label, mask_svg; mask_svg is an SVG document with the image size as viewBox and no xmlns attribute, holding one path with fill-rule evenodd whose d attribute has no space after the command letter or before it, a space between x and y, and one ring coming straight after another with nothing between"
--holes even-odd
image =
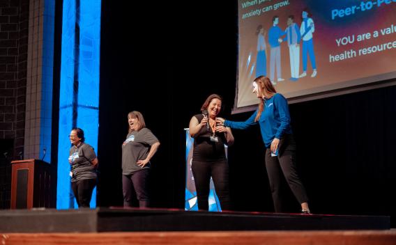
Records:
<instances>
[{"instance_id":1,"label":"woman in gray t-shirt standing closest to the wooden podium","mask_svg":"<svg viewBox=\"0 0 396 245\"><path fill-rule=\"evenodd\" d=\"M84 143L84 131L74 128L69 135L70 148L69 163L71 165L70 177L72 189L78 207L89 207L92 191L96 187L96 168L98 158L91 145Z\"/></svg>"}]
</instances>

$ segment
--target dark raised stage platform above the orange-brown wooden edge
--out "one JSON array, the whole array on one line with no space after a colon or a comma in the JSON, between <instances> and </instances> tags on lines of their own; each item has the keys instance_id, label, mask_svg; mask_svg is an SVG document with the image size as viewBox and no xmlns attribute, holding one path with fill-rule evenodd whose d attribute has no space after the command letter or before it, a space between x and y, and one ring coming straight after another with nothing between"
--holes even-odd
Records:
<instances>
[{"instance_id":1,"label":"dark raised stage platform above the orange-brown wooden edge","mask_svg":"<svg viewBox=\"0 0 396 245\"><path fill-rule=\"evenodd\" d=\"M183 210L1 210L0 232L389 230L389 216Z\"/></svg>"}]
</instances>

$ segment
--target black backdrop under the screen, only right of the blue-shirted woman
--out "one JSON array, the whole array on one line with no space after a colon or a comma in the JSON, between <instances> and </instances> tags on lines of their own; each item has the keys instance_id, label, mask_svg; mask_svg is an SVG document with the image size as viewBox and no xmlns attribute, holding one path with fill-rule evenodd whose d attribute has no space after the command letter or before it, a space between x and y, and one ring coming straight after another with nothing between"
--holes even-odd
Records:
<instances>
[{"instance_id":1,"label":"black backdrop under the screen, only right of the blue-shirted woman","mask_svg":"<svg viewBox=\"0 0 396 245\"><path fill-rule=\"evenodd\" d=\"M290 107L315 209L395 216L396 86Z\"/></svg>"}]
</instances>

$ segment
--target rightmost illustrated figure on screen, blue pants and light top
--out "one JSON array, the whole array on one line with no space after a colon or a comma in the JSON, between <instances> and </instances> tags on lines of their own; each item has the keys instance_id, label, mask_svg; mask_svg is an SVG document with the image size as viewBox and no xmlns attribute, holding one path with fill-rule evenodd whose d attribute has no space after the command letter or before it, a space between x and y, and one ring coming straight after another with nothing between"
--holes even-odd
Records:
<instances>
[{"instance_id":1,"label":"rightmost illustrated figure on screen, blue pants and light top","mask_svg":"<svg viewBox=\"0 0 396 245\"><path fill-rule=\"evenodd\" d=\"M310 55L310 61L312 64L312 75L311 77L317 76L317 64L315 61L314 54L314 42L312 41L313 35L315 31L314 21L311 18L310 10L305 8L302 13L303 22L300 26L301 38L303 39L303 73L300 74L300 77L305 77L307 75L307 55Z\"/></svg>"}]
</instances>

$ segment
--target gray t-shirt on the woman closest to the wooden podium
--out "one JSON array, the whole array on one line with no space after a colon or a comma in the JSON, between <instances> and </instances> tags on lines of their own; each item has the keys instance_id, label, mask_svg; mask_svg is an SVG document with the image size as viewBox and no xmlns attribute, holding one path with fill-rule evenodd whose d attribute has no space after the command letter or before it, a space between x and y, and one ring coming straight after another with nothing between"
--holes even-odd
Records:
<instances>
[{"instance_id":1,"label":"gray t-shirt on the woman closest to the wooden podium","mask_svg":"<svg viewBox=\"0 0 396 245\"><path fill-rule=\"evenodd\" d=\"M96 168L91 164L96 159L96 154L91 145L81 143L77 148L73 145L69 159L72 161L72 182L96 179Z\"/></svg>"}]
</instances>

